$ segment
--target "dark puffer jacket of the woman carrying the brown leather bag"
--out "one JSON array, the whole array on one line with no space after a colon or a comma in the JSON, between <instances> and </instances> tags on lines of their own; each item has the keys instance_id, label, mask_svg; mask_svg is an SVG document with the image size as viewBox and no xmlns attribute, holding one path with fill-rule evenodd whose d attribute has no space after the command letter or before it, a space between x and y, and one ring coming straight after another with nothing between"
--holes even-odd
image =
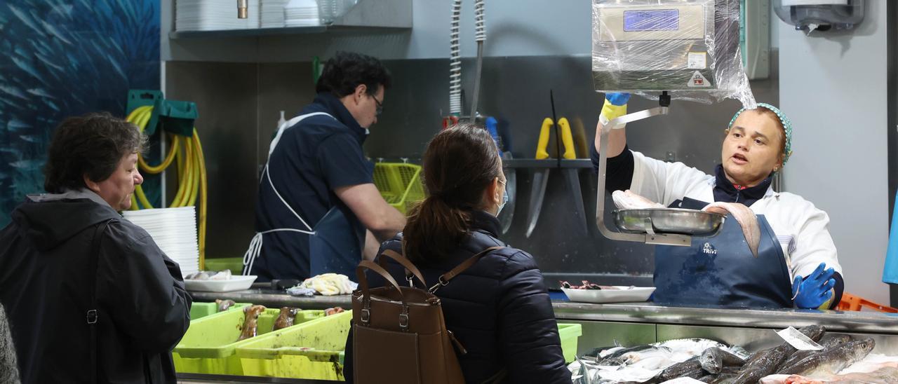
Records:
<instances>
[{"instance_id":1,"label":"dark puffer jacket of the woman carrying the brown leather bag","mask_svg":"<svg viewBox=\"0 0 898 384\"><path fill-rule=\"evenodd\" d=\"M476 212L472 236L452 257L423 265L418 263L427 284L474 254L495 246L499 223L495 216ZM383 243L381 250L401 252L401 235ZM387 270L397 281L405 280L404 268L389 260ZM383 278L369 273L373 287ZM480 258L462 275L439 289L446 327L468 353L459 356L465 381L480 383L505 370L508 383L569 383L558 324L549 293L533 256L521 249L505 248ZM351 382L352 335L347 340L344 375Z\"/></svg>"}]
</instances>

